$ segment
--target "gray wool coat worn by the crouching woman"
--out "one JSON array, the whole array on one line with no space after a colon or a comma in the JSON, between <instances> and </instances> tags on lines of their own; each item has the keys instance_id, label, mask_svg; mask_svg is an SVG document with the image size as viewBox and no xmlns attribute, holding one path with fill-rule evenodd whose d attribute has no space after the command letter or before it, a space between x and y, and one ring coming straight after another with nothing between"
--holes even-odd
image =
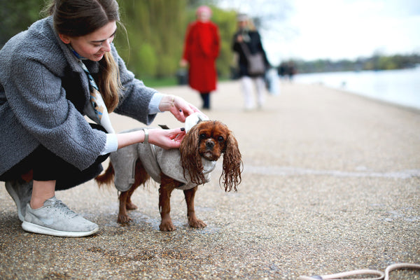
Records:
<instances>
[{"instance_id":1,"label":"gray wool coat worn by the crouching woman","mask_svg":"<svg viewBox=\"0 0 420 280\"><path fill-rule=\"evenodd\" d=\"M149 125L148 104L155 90L127 70L112 45L124 90L116 113ZM97 62L87 61L92 76ZM80 170L102 152L106 134L93 130L83 116L89 103L87 76L62 43L52 17L34 22L0 50L0 175L39 145Z\"/></svg>"}]
</instances>

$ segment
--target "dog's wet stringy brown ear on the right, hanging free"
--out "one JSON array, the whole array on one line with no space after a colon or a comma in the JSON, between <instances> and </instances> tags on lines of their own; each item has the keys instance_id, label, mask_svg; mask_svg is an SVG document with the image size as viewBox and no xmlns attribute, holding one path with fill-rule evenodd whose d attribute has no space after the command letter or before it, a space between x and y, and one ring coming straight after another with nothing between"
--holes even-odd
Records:
<instances>
[{"instance_id":1,"label":"dog's wet stringy brown ear on the right, hanging free","mask_svg":"<svg viewBox=\"0 0 420 280\"><path fill-rule=\"evenodd\" d=\"M226 139L226 151L223 153L223 172L219 183L223 178L225 191L230 192L232 188L237 191L237 186L241 183L242 172L241 152L239 152L237 139L229 132Z\"/></svg>"}]
</instances>

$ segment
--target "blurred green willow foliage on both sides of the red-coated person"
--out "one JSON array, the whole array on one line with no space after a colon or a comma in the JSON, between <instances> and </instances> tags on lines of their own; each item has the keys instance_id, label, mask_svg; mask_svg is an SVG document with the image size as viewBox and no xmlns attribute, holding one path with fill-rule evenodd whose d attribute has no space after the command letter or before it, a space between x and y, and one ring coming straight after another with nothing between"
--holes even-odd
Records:
<instances>
[{"instance_id":1,"label":"blurred green willow foliage on both sides of the red-coated person","mask_svg":"<svg viewBox=\"0 0 420 280\"><path fill-rule=\"evenodd\" d=\"M119 3L130 46L121 32L116 37L116 45L128 68L140 78L174 76L183 52L186 27L195 20L195 9L202 1L120 0ZM215 6L211 9L212 20L219 26L221 35L217 69L221 76L228 77L236 13Z\"/></svg>"}]
</instances>

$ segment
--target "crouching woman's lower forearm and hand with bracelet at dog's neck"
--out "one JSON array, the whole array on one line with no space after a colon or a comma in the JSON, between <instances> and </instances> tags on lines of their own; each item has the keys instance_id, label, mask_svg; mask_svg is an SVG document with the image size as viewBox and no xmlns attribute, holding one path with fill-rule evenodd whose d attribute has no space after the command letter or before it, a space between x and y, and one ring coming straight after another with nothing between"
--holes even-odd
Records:
<instances>
[{"instance_id":1,"label":"crouching woman's lower forearm and hand with bracelet at dog's neck","mask_svg":"<svg viewBox=\"0 0 420 280\"><path fill-rule=\"evenodd\" d=\"M155 144L165 149L179 148L181 141L186 136L183 127L174 130L161 130L160 128L146 128L148 133L148 143ZM123 148L132 144L143 143L145 139L144 130L134 132L118 133L118 148Z\"/></svg>"}]
</instances>

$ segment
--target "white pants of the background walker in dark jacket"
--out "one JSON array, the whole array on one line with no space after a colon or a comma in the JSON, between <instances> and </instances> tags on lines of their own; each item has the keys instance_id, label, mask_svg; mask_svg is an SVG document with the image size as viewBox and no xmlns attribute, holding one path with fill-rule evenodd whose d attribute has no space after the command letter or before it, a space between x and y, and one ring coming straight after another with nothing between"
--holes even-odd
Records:
<instances>
[{"instance_id":1,"label":"white pants of the background walker in dark jacket","mask_svg":"<svg viewBox=\"0 0 420 280\"><path fill-rule=\"evenodd\" d=\"M243 76L241 78L241 87L242 92L244 92L244 102L245 102L245 109L253 109L255 108L255 102L253 98L253 91L254 91L254 83L255 88L257 90L257 106L259 108L264 105L265 102L265 83L262 77L251 78L248 76Z\"/></svg>"}]
</instances>

